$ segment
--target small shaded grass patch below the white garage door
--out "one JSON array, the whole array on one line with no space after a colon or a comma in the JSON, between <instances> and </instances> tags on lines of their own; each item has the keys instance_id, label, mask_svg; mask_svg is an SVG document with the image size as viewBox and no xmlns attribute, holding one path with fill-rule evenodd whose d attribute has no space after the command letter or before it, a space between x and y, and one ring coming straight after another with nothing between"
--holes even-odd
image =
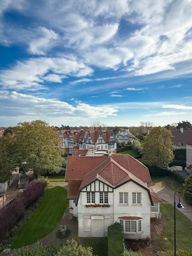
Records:
<instances>
[{"instance_id":1,"label":"small shaded grass patch below the white garage door","mask_svg":"<svg viewBox=\"0 0 192 256\"><path fill-rule=\"evenodd\" d=\"M93 254L98 256L107 255L107 239L106 238L80 238L81 243L93 248Z\"/></svg>"}]
</instances>

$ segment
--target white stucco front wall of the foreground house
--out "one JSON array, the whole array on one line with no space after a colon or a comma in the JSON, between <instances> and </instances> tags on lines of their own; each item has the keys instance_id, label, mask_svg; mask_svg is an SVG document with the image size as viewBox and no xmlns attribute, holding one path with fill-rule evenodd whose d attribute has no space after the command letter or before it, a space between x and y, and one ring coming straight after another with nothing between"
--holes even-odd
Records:
<instances>
[{"instance_id":1,"label":"white stucco front wall of the foreground house","mask_svg":"<svg viewBox=\"0 0 192 256\"><path fill-rule=\"evenodd\" d=\"M98 183L98 181L96 181ZM94 185L92 186L92 191ZM90 191L88 186L87 191ZM95 185L95 191L97 191L99 185ZM100 188L102 190L103 188ZM104 190L107 191L107 186L104 186ZM112 188L108 188L112 191ZM119 192L128 192L128 204L119 204ZM141 204L132 204L132 192L141 192ZM116 188L114 192L108 193L110 207L85 207L87 204L87 193L81 192L78 200L78 235L80 237L92 236L92 216L103 216L104 218L104 236L107 236L106 225L111 222L119 222L119 217L124 216L136 216L142 218L142 231L140 233L125 233L126 238L139 239L139 238L150 238L150 198L148 192L136 185L133 182L128 182L119 188ZM95 204L99 202L99 192L95 192ZM84 223L85 219L90 224L90 229L85 230ZM107 224L106 224L107 223Z\"/></svg>"}]
</instances>

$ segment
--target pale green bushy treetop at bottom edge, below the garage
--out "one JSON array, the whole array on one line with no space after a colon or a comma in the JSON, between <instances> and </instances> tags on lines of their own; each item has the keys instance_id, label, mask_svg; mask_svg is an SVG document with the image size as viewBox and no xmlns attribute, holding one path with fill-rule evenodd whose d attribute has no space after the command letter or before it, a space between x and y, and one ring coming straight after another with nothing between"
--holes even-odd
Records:
<instances>
[{"instance_id":1,"label":"pale green bushy treetop at bottom edge, below the garage","mask_svg":"<svg viewBox=\"0 0 192 256\"><path fill-rule=\"evenodd\" d=\"M56 256L93 256L92 247L85 247L75 240L68 240L66 245L61 247Z\"/></svg>"}]
</instances>

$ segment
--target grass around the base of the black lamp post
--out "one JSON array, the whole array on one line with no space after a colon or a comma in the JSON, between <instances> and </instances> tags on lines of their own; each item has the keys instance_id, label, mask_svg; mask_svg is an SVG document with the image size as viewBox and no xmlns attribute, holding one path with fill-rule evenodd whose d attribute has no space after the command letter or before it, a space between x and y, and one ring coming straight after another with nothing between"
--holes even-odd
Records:
<instances>
[{"instance_id":1,"label":"grass around the base of the black lamp post","mask_svg":"<svg viewBox=\"0 0 192 256\"><path fill-rule=\"evenodd\" d=\"M162 235L160 236L161 249L171 250L174 248L174 207L171 204L162 203L160 211L162 212L162 222L164 223ZM179 210L176 212L176 232L177 248L192 251L192 221ZM167 240L164 238L167 238Z\"/></svg>"}]
</instances>

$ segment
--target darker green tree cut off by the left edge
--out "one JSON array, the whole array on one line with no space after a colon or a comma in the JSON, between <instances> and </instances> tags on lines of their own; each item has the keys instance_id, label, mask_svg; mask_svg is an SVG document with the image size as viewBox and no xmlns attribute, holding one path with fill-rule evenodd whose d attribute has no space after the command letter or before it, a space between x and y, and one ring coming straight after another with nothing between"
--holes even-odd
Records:
<instances>
[{"instance_id":1,"label":"darker green tree cut off by the left edge","mask_svg":"<svg viewBox=\"0 0 192 256\"><path fill-rule=\"evenodd\" d=\"M0 183L4 183L11 176L11 169L15 168L15 143L10 134L0 138Z\"/></svg>"}]
</instances>

